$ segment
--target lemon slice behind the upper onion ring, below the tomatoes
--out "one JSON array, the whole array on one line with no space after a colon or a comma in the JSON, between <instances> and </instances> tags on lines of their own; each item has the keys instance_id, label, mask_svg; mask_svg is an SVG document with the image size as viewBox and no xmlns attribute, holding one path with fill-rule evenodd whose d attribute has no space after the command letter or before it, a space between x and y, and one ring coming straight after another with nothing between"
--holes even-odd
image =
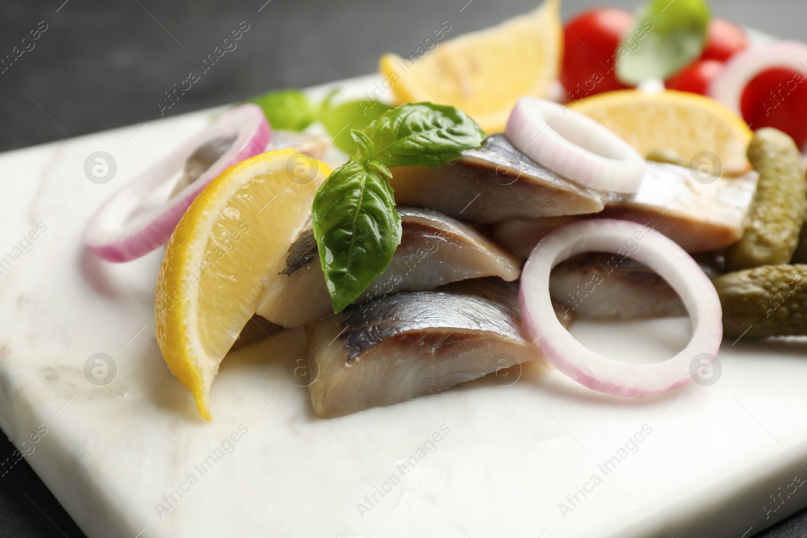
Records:
<instances>
[{"instance_id":1,"label":"lemon slice behind the upper onion ring, below the tomatoes","mask_svg":"<svg viewBox=\"0 0 807 538\"><path fill-rule=\"evenodd\" d=\"M751 169L751 129L708 97L675 90L619 90L569 105L625 139L642 156L672 150L690 166L728 175Z\"/></svg>"}]
</instances>

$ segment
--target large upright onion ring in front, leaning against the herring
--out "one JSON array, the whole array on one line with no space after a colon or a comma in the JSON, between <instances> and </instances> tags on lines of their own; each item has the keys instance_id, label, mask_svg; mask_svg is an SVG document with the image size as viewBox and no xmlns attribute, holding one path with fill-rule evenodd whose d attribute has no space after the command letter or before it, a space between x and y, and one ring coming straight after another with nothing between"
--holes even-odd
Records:
<instances>
[{"instance_id":1,"label":"large upright onion ring in front, leaning against the herring","mask_svg":"<svg viewBox=\"0 0 807 538\"><path fill-rule=\"evenodd\" d=\"M550 299L550 272L580 252L613 252L650 266L678 292L692 318L692 340L678 355L658 364L631 365L587 349L562 327ZM646 398L686 385L692 361L703 368L717 356L723 336L722 311L709 277L675 242L649 226L615 219L569 224L533 249L521 272L521 315L525 329L546 360L592 390ZM705 359L706 362L701 361Z\"/></svg>"}]
</instances>

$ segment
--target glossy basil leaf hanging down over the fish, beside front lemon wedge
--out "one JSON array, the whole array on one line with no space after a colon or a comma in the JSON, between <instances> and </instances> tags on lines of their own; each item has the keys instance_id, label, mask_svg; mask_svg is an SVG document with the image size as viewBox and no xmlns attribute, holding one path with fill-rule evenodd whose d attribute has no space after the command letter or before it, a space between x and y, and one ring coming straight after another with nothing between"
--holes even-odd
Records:
<instances>
[{"instance_id":1,"label":"glossy basil leaf hanging down over the fish, beside front lemon wedge","mask_svg":"<svg viewBox=\"0 0 807 538\"><path fill-rule=\"evenodd\" d=\"M314 237L334 312L364 293L400 244L401 220L383 170L387 167L372 159L351 159L314 197Z\"/></svg>"}]
</instances>

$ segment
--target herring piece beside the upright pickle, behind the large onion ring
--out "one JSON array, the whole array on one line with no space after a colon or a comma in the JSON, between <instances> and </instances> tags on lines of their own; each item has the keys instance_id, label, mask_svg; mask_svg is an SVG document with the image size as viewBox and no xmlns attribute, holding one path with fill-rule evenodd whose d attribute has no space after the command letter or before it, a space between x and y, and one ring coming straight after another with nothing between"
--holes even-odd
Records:
<instances>
[{"instance_id":1,"label":"herring piece beside the upright pickle, behind the large onion ring","mask_svg":"<svg viewBox=\"0 0 807 538\"><path fill-rule=\"evenodd\" d=\"M605 209L597 215L510 219L495 223L492 236L522 258L550 231L585 218L650 224L687 252L707 252L737 242L746 227L759 174L700 181L692 174L682 166L647 161L638 192L603 194Z\"/></svg>"}]
</instances>

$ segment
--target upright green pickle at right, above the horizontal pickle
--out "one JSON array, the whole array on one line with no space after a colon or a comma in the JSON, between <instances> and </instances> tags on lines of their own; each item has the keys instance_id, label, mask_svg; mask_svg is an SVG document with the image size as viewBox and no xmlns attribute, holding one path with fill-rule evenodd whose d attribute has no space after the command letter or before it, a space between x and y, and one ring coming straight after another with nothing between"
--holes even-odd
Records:
<instances>
[{"instance_id":1,"label":"upright green pickle at right, above the horizontal pickle","mask_svg":"<svg viewBox=\"0 0 807 538\"><path fill-rule=\"evenodd\" d=\"M759 172L759 183L742 239L725 252L730 270L790 263L807 212L805 170L792 138L759 129L748 146L748 160Z\"/></svg>"}]
</instances>

